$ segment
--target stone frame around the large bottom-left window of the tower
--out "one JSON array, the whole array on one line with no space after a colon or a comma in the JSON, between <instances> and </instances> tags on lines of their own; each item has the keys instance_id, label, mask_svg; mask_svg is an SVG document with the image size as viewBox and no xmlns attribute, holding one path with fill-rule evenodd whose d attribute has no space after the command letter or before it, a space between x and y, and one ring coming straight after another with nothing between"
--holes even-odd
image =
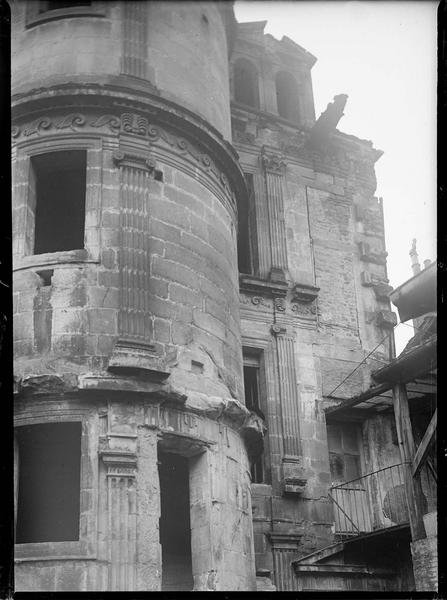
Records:
<instances>
[{"instance_id":1,"label":"stone frame around the large bottom-left window of the tower","mask_svg":"<svg viewBox=\"0 0 447 600\"><path fill-rule=\"evenodd\" d=\"M40 411L39 411L40 412ZM80 471L80 507L79 507L79 540L67 542L32 542L14 545L14 562L16 564L35 561L60 561L60 560L95 560L96 548L96 520L97 520L97 492L93 482L98 479L97 456L93 443L94 424L88 410L59 409L57 415L50 411L48 415L42 413L36 416L18 416L14 419L14 427L25 425L44 425L47 423L78 422L82 424L81 431L81 471ZM15 439L15 436L14 436ZM15 461L16 462L16 459ZM18 460L20 470L20 457ZM93 494L90 507L87 504L89 494ZM17 498L14 498L17 505Z\"/></svg>"}]
</instances>

